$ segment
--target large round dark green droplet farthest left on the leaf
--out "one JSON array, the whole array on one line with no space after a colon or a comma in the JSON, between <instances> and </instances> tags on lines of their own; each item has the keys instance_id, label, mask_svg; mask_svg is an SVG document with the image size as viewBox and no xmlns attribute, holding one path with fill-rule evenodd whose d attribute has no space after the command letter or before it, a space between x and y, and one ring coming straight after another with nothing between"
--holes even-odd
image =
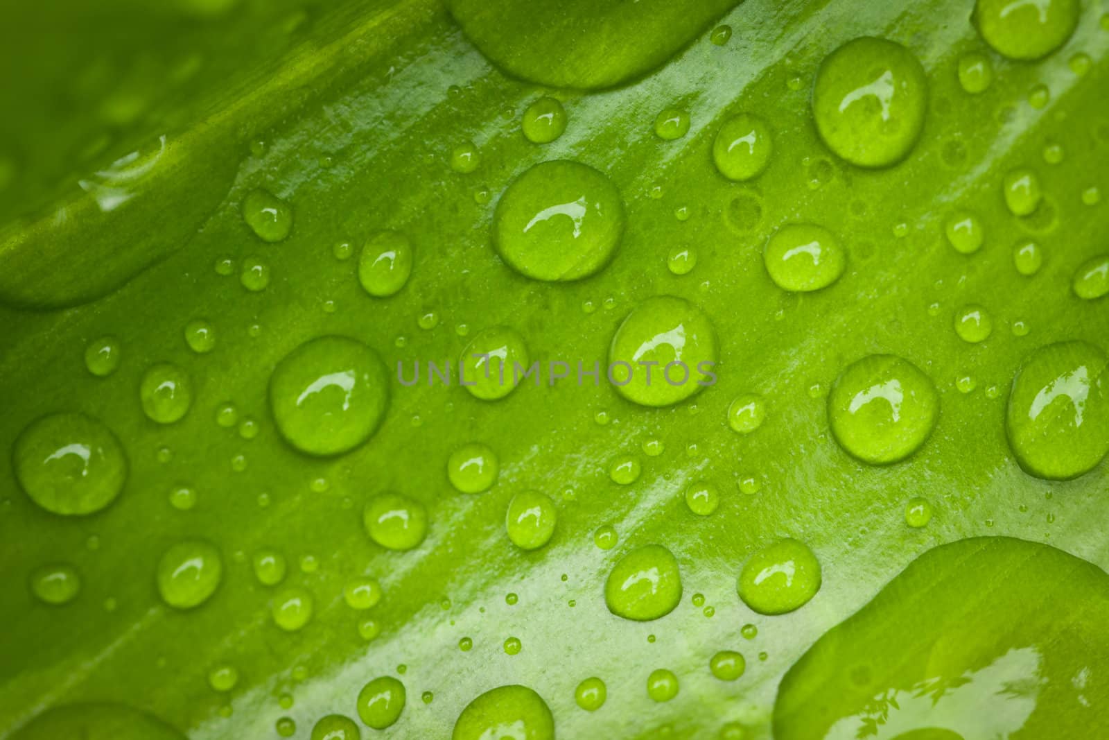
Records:
<instances>
[{"instance_id":1,"label":"large round dark green droplet farthest left on the leaf","mask_svg":"<svg viewBox=\"0 0 1109 740\"><path fill-rule=\"evenodd\" d=\"M16 478L47 511L78 516L115 500L128 460L111 429L84 414L53 414L32 422L16 439Z\"/></svg>"}]
</instances>

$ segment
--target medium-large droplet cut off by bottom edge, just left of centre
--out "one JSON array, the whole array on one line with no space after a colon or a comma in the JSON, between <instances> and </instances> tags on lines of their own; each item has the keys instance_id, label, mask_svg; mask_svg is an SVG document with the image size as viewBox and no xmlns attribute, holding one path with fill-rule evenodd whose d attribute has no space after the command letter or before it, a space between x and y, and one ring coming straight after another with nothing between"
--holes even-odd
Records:
<instances>
[{"instance_id":1,"label":"medium-large droplet cut off by bottom edge, just left of centre","mask_svg":"<svg viewBox=\"0 0 1109 740\"><path fill-rule=\"evenodd\" d=\"M554 740L554 718L542 697L526 686L501 686L486 691L455 721L451 740L509 737Z\"/></svg>"}]
</instances>

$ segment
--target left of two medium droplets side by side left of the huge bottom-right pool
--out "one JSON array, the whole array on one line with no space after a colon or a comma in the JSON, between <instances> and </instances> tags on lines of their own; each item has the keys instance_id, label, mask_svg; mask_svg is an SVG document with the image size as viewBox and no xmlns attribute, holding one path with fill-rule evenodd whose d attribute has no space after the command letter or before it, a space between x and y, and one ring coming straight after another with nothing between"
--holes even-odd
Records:
<instances>
[{"instance_id":1,"label":"left of two medium droplets side by side left of the huge bottom-right pool","mask_svg":"<svg viewBox=\"0 0 1109 740\"><path fill-rule=\"evenodd\" d=\"M624 555L604 582L609 611L650 621L674 610L682 598L678 560L661 545L644 545Z\"/></svg>"}]
</instances>

